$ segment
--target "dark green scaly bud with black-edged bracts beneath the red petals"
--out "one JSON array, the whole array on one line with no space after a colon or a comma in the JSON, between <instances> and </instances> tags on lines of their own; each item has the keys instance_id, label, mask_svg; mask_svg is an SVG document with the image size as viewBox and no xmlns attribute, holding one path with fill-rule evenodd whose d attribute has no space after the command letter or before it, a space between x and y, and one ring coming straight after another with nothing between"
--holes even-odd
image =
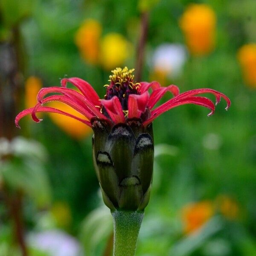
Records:
<instances>
[{"instance_id":1,"label":"dark green scaly bud with black-edged bracts beneath the red petals","mask_svg":"<svg viewBox=\"0 0 256 256\"><path fill-rule=\"evenodd\" d=\"M93 162L104 203L111 211L143 211L148 204L154 161L152 125L140 119L114 125L92 120Z\"/></svg>"}]
</instances>

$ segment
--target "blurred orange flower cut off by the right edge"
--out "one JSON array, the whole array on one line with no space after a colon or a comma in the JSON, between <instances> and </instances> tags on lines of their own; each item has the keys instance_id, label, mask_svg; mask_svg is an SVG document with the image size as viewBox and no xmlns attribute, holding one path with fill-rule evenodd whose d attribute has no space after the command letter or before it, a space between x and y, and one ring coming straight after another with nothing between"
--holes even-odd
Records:
<instances>
[{"instance_id":1,"label":"blurred orange flower cut off by the right edge","mask_svg":"<svg viewBox=\"0 0 256 256\"><path fill-rule=\"evenodd\" d=\"M246 83L256 88L256 44L245 44L238 51L238 59Z\"/></svg>"}]
</instances>

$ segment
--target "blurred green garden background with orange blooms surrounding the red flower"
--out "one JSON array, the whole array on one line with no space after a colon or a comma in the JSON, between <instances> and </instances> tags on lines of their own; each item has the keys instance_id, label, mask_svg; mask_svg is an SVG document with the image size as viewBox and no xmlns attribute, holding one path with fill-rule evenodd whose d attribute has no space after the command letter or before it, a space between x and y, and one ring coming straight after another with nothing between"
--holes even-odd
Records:
<instances>
[{"instance_id":1,"label":"blurred green garden background with orange blooms surrounding the red flower","mask_svg":"<svg viewBox=\"0 0 256 256\"><path fill-rule=\"evenodd\" d=\"M90 129L44 114L18 130L14 118L64 77L103 97L111 69L136 67L143 12L142 81L209 87L232 105L211 117L180 106L154 121L137 255L256 255L255 0L0 0L0 256L111 255Z\"/></svg>"}]
</instances>

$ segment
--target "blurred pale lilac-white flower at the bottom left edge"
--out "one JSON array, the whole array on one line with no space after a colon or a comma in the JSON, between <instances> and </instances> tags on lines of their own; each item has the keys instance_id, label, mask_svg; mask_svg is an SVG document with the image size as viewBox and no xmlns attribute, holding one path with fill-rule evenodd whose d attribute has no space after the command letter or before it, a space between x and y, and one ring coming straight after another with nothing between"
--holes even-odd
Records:
<instances>
[{"instance_id":1,"label":"blurred pale lilac-white flower at the bottom left edge","mask_svg":"<svg viewBox=\"0 0 256 256\"><path fill-rule=\"evenodd\" d=\"M49 256L78 256L81 253L79 242L60 230L33 233L29 236L29 244Z\"/></svg>"}]
</instances>

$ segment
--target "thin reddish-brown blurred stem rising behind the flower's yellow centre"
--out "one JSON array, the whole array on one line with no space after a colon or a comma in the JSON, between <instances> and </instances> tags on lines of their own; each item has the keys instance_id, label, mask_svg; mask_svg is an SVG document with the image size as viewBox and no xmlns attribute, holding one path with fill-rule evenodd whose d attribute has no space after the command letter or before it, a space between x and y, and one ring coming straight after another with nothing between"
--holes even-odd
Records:
<instances>
[{"instance_id":1,"label":"thin reddish-brown blurred stem rising behind the flower's yellow centre","mask_svg":"<svg viewBox=\"0 0 256 256\"><path fill-rule=\"evenodd\" d=\"M143 12L141 16L140 41L137 47L137 63L136 63L136 81L141 81L145 44L148 35L148 12Z\"/></svg>"}]
</instances>

